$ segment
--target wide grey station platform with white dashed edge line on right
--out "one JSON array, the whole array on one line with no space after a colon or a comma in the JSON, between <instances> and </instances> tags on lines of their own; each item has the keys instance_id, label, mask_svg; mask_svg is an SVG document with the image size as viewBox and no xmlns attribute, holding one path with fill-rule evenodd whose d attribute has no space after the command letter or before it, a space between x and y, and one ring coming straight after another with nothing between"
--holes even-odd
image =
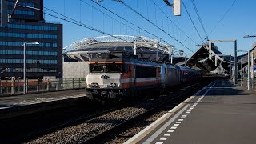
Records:
<instances>
[{"instance_id":1,"label":"wide grey station platform with white dashed edge line on right","mask_svg":"<svg viewBox=\"0 0 256 144\"><path fill-rule=\"evenodd\" d=\"M255 143L256 93L216 80L125 143Z\"/></svg>"}]
</instances>

